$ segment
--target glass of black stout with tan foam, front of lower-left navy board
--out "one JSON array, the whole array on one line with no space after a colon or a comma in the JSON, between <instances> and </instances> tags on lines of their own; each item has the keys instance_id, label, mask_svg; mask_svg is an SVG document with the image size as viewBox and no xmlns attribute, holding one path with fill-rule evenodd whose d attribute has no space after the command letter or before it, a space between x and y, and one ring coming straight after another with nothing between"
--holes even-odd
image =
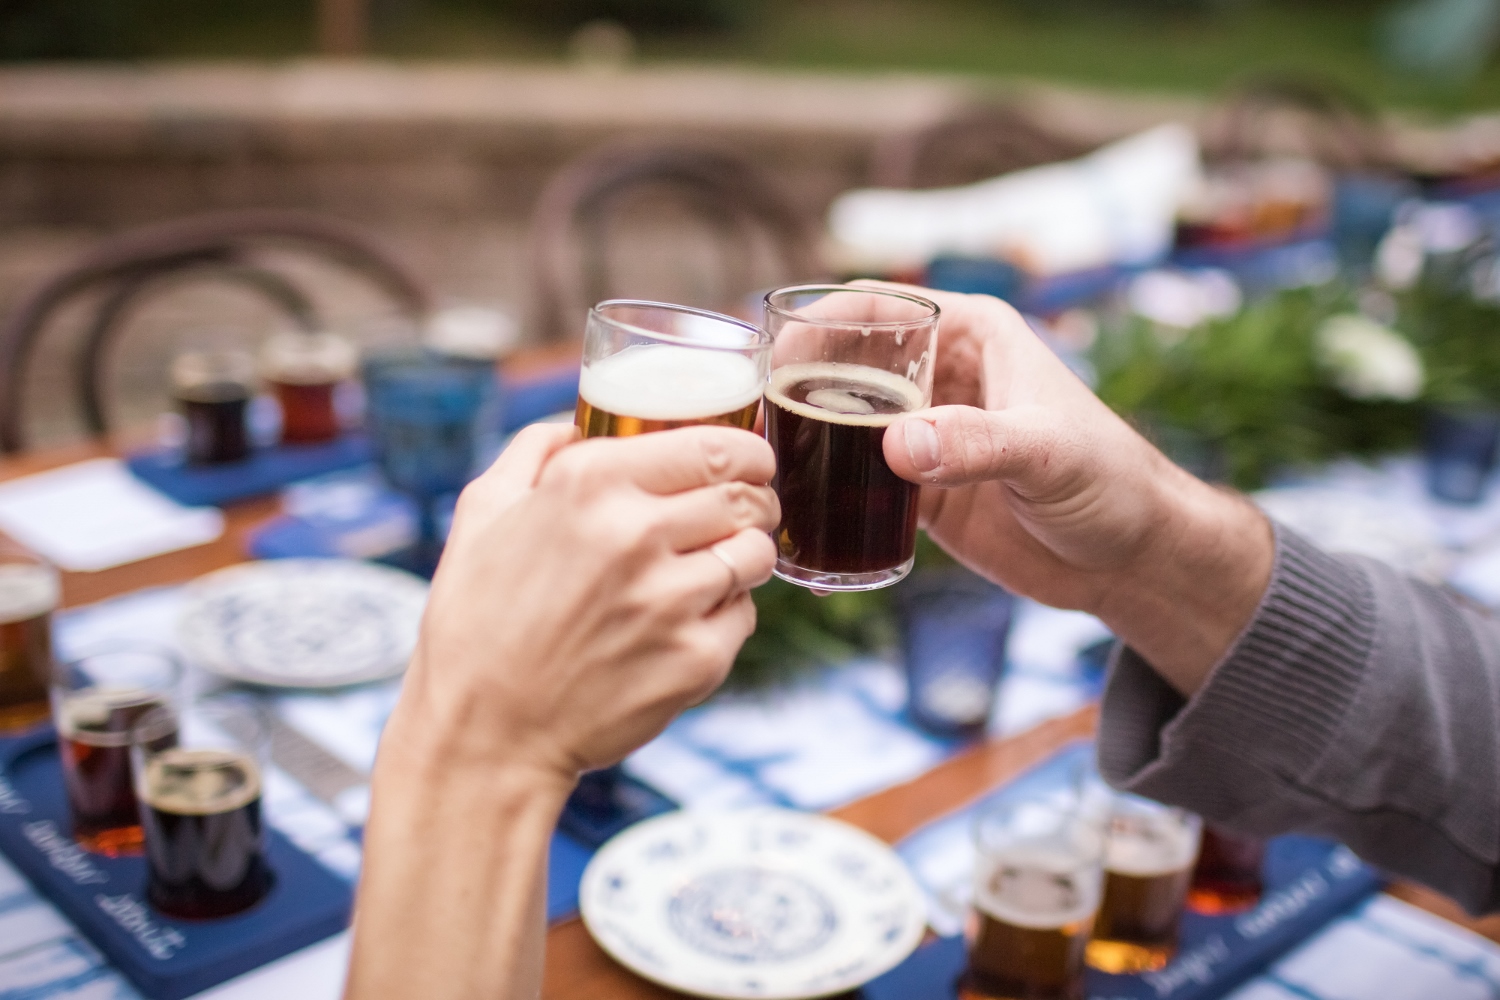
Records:
<instances>
[{"instance_id":1,"label":"glass of black stout with tan foam, front of lower-left navy board","mask_svg":"<svg viewBox=\"0 0 1500 1000\"><path fill-rule=\"evenodd\" d=\"M242 913L270 892L261 814L268 750L266 714L243 696L140 720L130 753L146 828L146 898L154 910L208 921Z\"/></svg>"}]
</instances>

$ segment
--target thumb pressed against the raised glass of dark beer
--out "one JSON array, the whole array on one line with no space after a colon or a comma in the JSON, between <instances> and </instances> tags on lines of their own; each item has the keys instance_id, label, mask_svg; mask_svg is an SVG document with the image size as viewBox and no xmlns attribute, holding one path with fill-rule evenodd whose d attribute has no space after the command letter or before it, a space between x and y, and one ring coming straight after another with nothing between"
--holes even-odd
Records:
<instances>
[{"instance_id":1,"label":"thumb pressed against the raised glass of dark beer","mask_svg":"<svg viewBox=\"0 0 1500 1000\"><path fill-rule=\"evenodd\" d=\"M886 427L884 447L891 471L922 486L1024 483L1046 471L1050 453L1030 408L933 406Z\"/></svg>"}]
</instances>

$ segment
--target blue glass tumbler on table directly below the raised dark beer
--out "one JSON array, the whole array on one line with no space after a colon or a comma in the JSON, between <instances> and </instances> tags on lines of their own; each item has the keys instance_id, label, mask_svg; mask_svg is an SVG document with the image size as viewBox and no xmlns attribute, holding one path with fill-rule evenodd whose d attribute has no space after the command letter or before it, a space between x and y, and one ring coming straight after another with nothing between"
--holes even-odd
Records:
<instances>
[{"instance_id":1,"label":"blue glass tumbler on table directly below the raised dark beer","mask_svg":"<svg viewBox=\"0 0 1500 1000\"><path fill-rule=\"evenodd\" d=\"M897 604L912 721L938 736L981 735L1005 667L1016 598L956 568L912 577Z\"/></svg>"}]
</instances>

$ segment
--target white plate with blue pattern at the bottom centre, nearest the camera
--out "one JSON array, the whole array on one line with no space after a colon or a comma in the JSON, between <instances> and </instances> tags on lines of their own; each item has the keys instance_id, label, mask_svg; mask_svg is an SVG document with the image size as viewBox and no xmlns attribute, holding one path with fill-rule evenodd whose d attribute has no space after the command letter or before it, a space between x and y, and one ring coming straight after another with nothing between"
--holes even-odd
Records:
<instances>
[{"instance_id":1,"label":"white plate with blue pattern at the bottom centre, nearest the camera","mask_svg":"<svg viewBox=\"0 0 1500 1000\"><path fill-rule=\"evenodd\" d=\"M632 826L588 864L579 910L626 967L726 1000L855 990L910 955L927 925L922 894L886 844L772 808Z\"/></svg>"}]
</instances>

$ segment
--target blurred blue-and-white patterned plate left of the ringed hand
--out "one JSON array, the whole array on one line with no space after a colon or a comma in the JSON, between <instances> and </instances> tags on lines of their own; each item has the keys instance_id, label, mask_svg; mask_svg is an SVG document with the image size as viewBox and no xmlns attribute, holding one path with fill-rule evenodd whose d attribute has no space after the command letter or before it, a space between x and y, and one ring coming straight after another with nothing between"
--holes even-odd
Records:
<instances>
[{"instance_id":1,"label":"blurred blue-and-white patterned plate left of the ringed hand","mask_svg":"<svg viewBox=\"0 0 1500 1000\"><path fill-rule=\"evenodd\" d=\"M188 586L183 652L234 681L328 688L390 678L417 645L428 583L354 559L272 559Z\"/></svg>"}]
</instances>

